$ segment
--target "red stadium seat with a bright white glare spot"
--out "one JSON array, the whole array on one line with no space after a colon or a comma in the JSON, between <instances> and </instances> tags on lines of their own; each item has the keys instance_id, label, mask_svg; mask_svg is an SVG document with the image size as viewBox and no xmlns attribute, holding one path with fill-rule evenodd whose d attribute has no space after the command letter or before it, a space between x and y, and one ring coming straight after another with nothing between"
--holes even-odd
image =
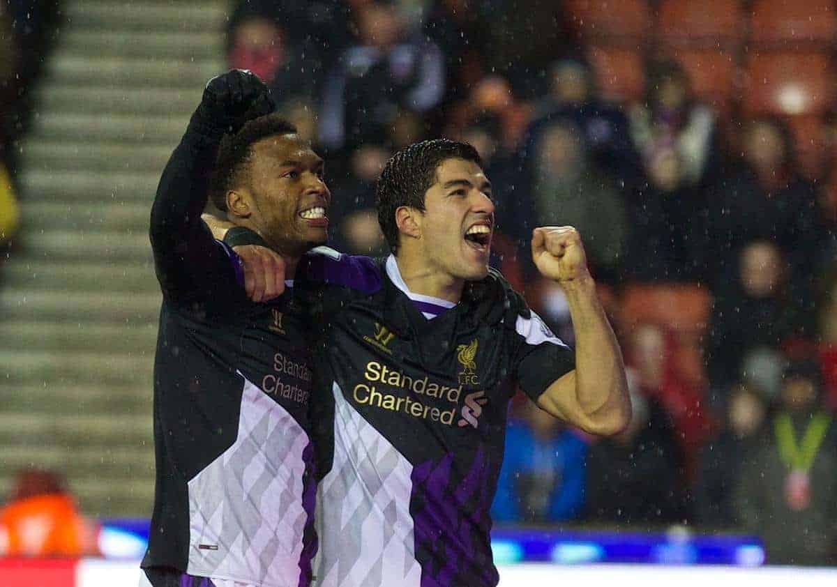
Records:
<instances>
[{"instance_id":1,"label":"red stadium seat with a bright white glare spot","mask_svg":"<svg viewBox=\"0 0 837 587\"><path fill-rule=\"evenodd\" d=\"M742 102L749 115L815 115L832 104L828 54L762 52L747 59L746 68Z\"/></svg>"}]
</instances>

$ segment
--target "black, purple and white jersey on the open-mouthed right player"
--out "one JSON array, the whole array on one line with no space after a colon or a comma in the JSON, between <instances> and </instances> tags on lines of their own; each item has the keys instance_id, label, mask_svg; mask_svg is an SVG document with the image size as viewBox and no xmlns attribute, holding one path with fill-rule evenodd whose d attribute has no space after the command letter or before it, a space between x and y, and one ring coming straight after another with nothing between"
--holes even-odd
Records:
<instances>
[{"instance_id":1,"label":"black, purple and white jersey on the open-mouthed right player","mask_svg":"<svg viewBox=\"0 0 837 587\"><path fill-rule=\"evenodd\" d=\"M572 350L510 311L493 275L445 309L408 292L393 257L301 267L318 325L316 584L496 585L489 510L509 401L573 370Z\"/></svg>"}]
</instances>

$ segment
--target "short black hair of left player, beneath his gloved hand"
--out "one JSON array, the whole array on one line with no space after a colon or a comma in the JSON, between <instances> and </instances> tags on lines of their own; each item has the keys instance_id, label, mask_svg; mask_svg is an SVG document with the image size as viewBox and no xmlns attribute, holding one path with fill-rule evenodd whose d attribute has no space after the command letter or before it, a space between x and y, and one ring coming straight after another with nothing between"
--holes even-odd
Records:
<instances>
[{"instance_id":1,"label":"short black hair of left player, beneath his gloved hand","mask_svg":"<svg viewBox=\"0 0 837 587\"><path fill-rule=\"evenodd\" d=\"M238 132L223 135L209 188L209 197L218 210L227 211L227 191L238 185L242 174L249 171L255 143L270 136L295 134L295 125L273 113L248 120Z\"/></svg>"}]
</instances>

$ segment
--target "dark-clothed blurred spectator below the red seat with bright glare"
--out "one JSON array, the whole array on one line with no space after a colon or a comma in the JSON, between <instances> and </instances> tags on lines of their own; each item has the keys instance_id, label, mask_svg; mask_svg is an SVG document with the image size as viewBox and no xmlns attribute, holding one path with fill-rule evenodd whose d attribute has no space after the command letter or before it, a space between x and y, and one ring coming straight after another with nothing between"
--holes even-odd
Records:
<instances>
[{"instance_id":1,"label":"dark-clothed blurred spectator below the red seat with bright glare","mask_svg":"<svg viewBox=\"0 0 837 587\"><path fill-rule=\"evenodd\" d=\"M709 198L706 266L715 284L723 283L745 243L772 241L791 265L797 304L809 304L820 237L814 186L798 173L793 135L777 118L752 120L744 126L742 148L738 171Z\"/></svg>"}]
</instances>

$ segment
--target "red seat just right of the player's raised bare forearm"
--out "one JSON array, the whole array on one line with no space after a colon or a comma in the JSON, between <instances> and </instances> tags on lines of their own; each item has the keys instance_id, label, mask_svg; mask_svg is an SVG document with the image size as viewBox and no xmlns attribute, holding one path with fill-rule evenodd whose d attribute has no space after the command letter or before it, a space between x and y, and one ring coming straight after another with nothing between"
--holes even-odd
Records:
<instances>
[{"instance_id":1,"label":"red seat just right of the player's raised bare forearm","mask_svg":"<svg viewBox=\"0 0 837 587\"><path fill-rule=\"evenodd\" d=\"M699 334L706 329L711 309L709 290L693 283L632 283L622 294L620 322L659 324L673 332Z\"/></svg>"}]
</instances>

